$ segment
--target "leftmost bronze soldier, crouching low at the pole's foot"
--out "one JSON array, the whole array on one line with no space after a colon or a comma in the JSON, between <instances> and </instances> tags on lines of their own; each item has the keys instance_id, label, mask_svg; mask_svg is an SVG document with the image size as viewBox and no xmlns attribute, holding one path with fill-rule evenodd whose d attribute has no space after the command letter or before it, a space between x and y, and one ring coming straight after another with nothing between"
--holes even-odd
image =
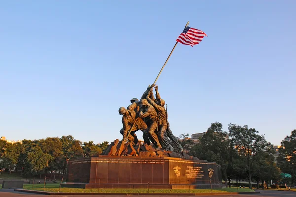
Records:
<instances>
[{"instance_id":1,"label":"leftmost bronze soldier, crouching low at the pole's foot","mask_svg":"<svg viewBox=\"0 0 296 197\"><path fill-rule=\"evenodd\" d=\"M120 107L118 111L119 111L119 115L123 115L122 116L123 128L120 130L120 133L123 135L123 140L125 140L129 130L131 129L131 126L136 121L130 135L128 136L128 140L131 142L134 142L135 144L138 143L138 138L135 132L138 130L141 130L142 132L148 132L146 123L141 118L136 119L135 111L127 110L124 107Z\"/></svg>"}]
</instances>

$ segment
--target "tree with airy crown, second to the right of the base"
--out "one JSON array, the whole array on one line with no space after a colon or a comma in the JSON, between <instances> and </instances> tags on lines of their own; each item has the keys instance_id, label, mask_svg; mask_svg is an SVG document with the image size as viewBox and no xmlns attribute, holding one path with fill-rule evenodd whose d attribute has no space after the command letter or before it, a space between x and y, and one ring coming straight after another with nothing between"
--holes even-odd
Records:
<instances>
[{"instance_id":1,"label":"tree with airy crown, second to the right of the base","mask_svg":"<svg viewBox=\"0 0 296 197\"><path fill-rule=\"evenodd\" d=\"M239 126L230 123L228 130L246 169L249 188L252 188L252 175L259 168L259 160L256 160L256 157L261 152L270 152L272 145L266 141L263 135L259 135L256 129L248 128L248 125Z\"/></svg>"}]
</instances>

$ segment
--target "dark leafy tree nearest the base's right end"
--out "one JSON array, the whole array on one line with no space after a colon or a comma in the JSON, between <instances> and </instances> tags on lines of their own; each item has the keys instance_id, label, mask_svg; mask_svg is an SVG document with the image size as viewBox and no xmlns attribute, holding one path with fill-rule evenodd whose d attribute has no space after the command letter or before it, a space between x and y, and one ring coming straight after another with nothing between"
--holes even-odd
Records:
<instances>
[{"instance_id":1,"label":"dark leafy tree nearest the base's right end","mask_svg":"<svg viewBox=\"0 0 296 197\"><path fill-rule=\"evenodd\" d=\"M222 175L227 187L227 179L231 174L232 158L235 151L227 132L222 130L222 123L212 123L207 132L200 138L200 142L192 147L193 156L202 160L216 162L221 165Z\"/></svg>"}]
</instances>

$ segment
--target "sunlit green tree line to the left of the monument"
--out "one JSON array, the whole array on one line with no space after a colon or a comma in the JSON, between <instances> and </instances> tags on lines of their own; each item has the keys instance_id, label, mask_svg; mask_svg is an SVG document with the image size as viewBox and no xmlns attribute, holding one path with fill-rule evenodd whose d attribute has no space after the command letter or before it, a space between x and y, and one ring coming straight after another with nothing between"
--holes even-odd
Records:
<instances>
[{"instance_id":1,"label":"sunlit green tree line to the left of the monument","mask_svg":"<svg viewBox=\"0 0 296 197\"><path fill-rule=\"evenodd\" d=\"M24 177L41 175L47 171L66 174L69 159L97 156L109 142L82 143L73 136L47 137L40 140L23 140L7 143L0 140L0 169L16 169ZM2 173L2 170L1 172Z\"/></svg>"}]
</instances>

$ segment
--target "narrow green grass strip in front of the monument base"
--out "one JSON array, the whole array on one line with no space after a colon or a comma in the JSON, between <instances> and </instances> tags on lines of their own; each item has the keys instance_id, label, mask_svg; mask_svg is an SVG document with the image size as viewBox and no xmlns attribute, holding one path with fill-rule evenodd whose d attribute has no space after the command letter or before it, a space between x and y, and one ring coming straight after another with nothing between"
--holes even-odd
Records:
<instances>
[{"instance_id":1,"label":"narrow green grass strip in front of the monument base","mask_svg":"<svg viewBox=\"0 0 296 197\"><path fill-rule=\"evenodd\" d=\"M44 190L43 184L34 184L34 188L32 189L32 184L25 184L24 189L27 190ZM46 184L45 191L47 192L58 192L59 191L59 184L52 183L52 184ZM250 189L248 188L238 188L239 192L249 192ZM61 188L60 192L81 192L81 193L227 193L227 192L237 192L237 188L223 188L223 189L177 189L177 190L171 190L171 189L111 189L111 188L100 188L98 189L80 189L80 188Z\"/></svg>"}]
</instances>

